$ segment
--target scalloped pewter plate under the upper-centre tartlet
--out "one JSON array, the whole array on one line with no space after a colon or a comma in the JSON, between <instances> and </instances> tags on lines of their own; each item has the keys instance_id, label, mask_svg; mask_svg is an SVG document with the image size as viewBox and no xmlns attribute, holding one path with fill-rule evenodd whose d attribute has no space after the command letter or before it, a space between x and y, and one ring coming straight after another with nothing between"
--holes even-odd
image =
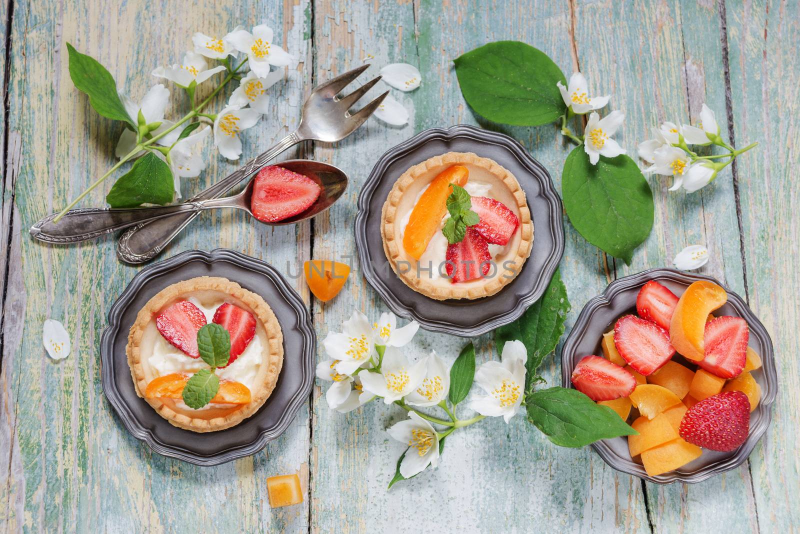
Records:
<instances>
[{"instance_id":1,"label":"scalloped pewter plate under the upper-centre tartlet","mask_svg":"<svg viewBox=\"0 0 800 534\"><path fill-rule=\"evenodd\" d=\"M436 301L400 280L383 253L381 211L394 182L406 169L446 152L474 152L489 157L517 177L534 221L530 257L514 281L491 297ZM355 219L358 260L366 281L399 316L422 328L475 337L514 321L542 296L564 252L561 199L550 174L513 138L474 126L432 128L384 153L358 195Z\"/></svg>"}]
</instances>

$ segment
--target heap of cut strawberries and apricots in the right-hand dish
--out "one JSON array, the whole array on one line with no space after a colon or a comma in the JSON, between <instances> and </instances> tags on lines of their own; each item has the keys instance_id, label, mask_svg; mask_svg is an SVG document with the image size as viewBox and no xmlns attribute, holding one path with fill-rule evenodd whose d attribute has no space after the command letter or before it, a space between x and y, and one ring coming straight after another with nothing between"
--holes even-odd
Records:
<instances>
[{"instance_id":1,"label":"heap of cut strawberries and apricots in the right-hand dish","mask_svg":"<svg viewBox=\"0 0 800 534\"><path fill-rule=\"evenodd\" d=\"M730 452L750 432L750 412L761 398L751 374L761 358L747 346L741 317L714 317L727 293L696 281L678 297L657 281L639 290L637 314L619 317L600 345L572 373L575 389L622 417L630 456L650 476L673 471L702 455Z\"/></svg>"}]
</instances>

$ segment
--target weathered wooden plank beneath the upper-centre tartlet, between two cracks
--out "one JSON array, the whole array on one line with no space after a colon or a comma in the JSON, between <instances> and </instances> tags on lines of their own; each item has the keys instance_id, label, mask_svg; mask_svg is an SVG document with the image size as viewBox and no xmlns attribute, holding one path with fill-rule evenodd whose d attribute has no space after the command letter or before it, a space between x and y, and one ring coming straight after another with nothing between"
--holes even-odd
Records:
<instances>
[{"instance_id":1,"label":"weathered wooden plank beneath the upper-centre tartlet, between two cracks","mask_svg":"<svg viewBox=\"0 0 800 534\"><path fill-rule=\"evenodd\" d=\"M413 93L394 92L414 110L410 126L397 130L370 124L368 130L357 134L356 141L340 143L335 152L315 151L318 157L332 157L349 171L356 187L350 203L331 210L330 221L315 223L314 257L354 251L350 236L354 200L358 184L374 164L374 154L431 126L478 122L505 131L522 140L551 170L556 184L560 183L569 147L562 146L558 130L551 126L506 128L475 117L458 90L451 61L485 42L516 38L545 50L569 71L566 2L557 6L550 2L506 2L502 6L482 2L446 6L438 2L414 2L414 6L333 2L315 6L314 16L317 73L346 70L358 58L371 54L376 66L414 63L424 80ZM598 276L602 272L598 254L586 251L584 243L574 230L567 229L562 274L575 305L570 325L586 298L606 285L604 277ZM317 308L319 333L338 329L354 307L366 310L372 318L385 309L359 277L350 281L346 293ZM434 348L452 359L464 342L420 333L410 352L421 356ZM479 339L478 347L481 360L492 357L494 346L489 336ZM559 369L555 361L548 363L550 383L560 380ZM390 440L383 429L404 415L398 408L370 404L340 416L331 412L321 397L326 385L319 385L314 403L312 524L320 532L404 531L430 524L436 517L447 517L450 528L464 532L524 532L526 525L542 522L558 530L647 529L638 480L617 476L588 448L555 447L522 417L509 426L502 420L487 420L458 432L448 440L438 469L386 492L402 444Z\"/></svg>"}]
</instances>

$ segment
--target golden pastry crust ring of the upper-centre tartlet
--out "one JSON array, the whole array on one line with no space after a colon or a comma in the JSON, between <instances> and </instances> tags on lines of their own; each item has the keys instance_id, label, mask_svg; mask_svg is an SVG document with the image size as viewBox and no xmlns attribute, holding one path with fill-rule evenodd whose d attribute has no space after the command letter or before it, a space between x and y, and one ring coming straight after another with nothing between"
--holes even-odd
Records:
<instances>
[{"instance_id":1,"label":"golden pastry crust ring of the upper-centre tartlet","mask_svg":"<svg viewBox=\"0 0 800 534\"><path fill-rule=\"evenodd\" d=\"M510 261L514 261L513 265L517 266L513 277L498 276L486 277L478 281L470 281L466 283L455 283L447 286L436 285L430 280L423 277L418 277L416 269L409 269L402 271L398 269L398 261L403 260L404 248L402 239L395 236L394 225L399 223L398 205L402 199L406 189L427 173L430 169L445 168L450 165L476 165L486 169L498 178L503 185L514 196L517 202L517 209L519 211L519 227L520 241L517 250L509 257ZM488 157L480 157L471 152L448 152L441 156L434 156L414 165L394 182L394 187L386 197L386 202L383 204L382 209L382 223L381 223L381 237L383 239L383 251L386 253L386 259L389 260L394 273L400 277L411 289L417 293L422 293L426 297L443 301L446 299L477 299L482 297L490 297L494 293L498 293L503 287L513 281L522 269L522 265L530 256L530 251L534 243L534 224L530 219L530 209L525 197L525 191L520 187L517 178L514 177L508 169L498 165L494 160ZM413 261L413 258L412 260ZM442 258L444 261L444 258ZM498 266L500 269L500 266Z\"/></svg>"}]
</instances>

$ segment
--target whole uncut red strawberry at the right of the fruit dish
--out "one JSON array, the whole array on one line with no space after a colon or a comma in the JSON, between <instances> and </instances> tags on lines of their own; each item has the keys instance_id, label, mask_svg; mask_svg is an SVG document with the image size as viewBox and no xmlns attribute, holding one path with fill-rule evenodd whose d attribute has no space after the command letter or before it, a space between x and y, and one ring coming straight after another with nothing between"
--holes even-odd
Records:
<instances>
[{"instance_id":1,"label":"whole uncut red strawberry at the right of the fruit dish","mask_svg":"<svg viewBox=\"0 0 800 534\"><path fill-rule=\"evenodd\" d=\"M678 429L681 437L712 451L738 448L750 432L750 401L741 391L726 391L694 404Z\"/></svg>"}]
</instances>

